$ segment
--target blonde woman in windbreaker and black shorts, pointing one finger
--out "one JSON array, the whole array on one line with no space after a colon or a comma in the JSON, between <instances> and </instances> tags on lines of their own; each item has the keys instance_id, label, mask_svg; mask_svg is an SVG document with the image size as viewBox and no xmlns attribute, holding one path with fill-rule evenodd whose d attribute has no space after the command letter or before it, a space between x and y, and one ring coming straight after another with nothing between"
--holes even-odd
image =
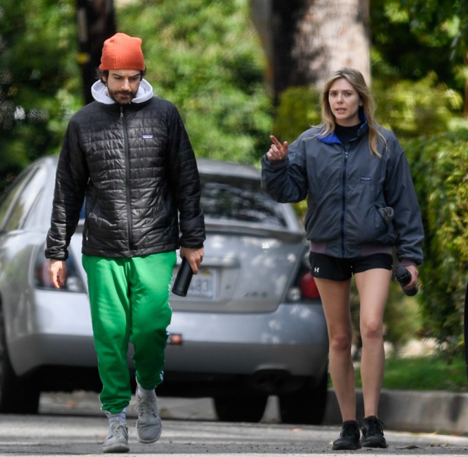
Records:
<instances>
[{"instance_id":1,"label":"blonde woman in windbreaker and black shorts, pointing one finger","mask_svg":"<svg viewBox=\"0 0 468 457\"><path fill-rule=\"evenodd\" d=\"M310 269L323 302L330 376L343 419L335 450L387 447L377 409L393 247L400 265L412 274L407 289L416 284L417 265L423 261L423 225L407 159L394 133L374 121L373 107L359 71L336 71L323 90L321 124L290 145L272 135L262 159L263 185L275 200L308 199ZM361 431L351 357L352 275L361 303Z\"/></svg>"}]
</instances>

